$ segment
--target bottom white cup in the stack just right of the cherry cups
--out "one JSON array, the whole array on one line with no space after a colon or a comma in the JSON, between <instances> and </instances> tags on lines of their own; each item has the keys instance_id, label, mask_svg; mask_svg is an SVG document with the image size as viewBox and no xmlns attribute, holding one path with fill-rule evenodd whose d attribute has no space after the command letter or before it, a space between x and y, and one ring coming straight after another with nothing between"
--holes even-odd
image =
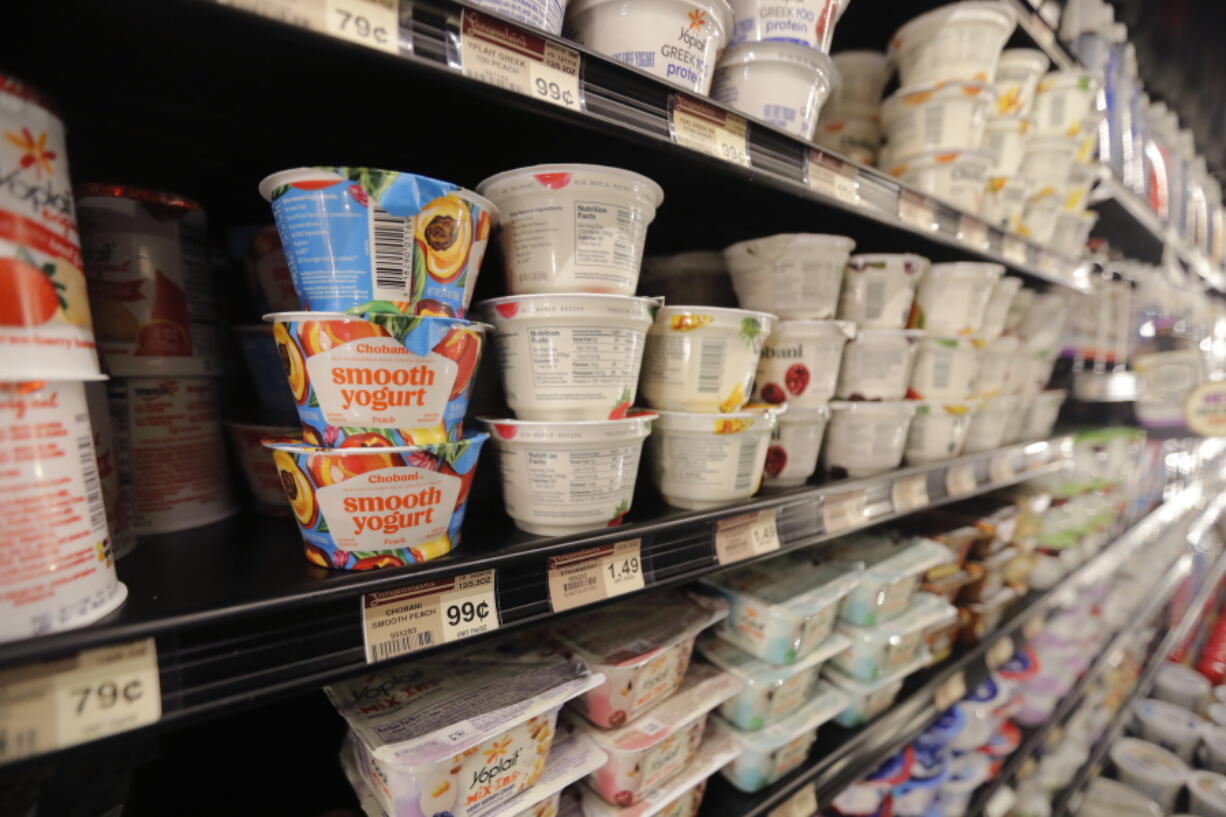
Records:
<instances>
[{"instance_id":1,"label":"bottom white cup in the stack just right of the cherry cups","mask_svg":"<svg viewBox=\"0 0 1226 817\"><path fill-rule=\"evenodd\" d=\"M902 462L915 412L916 404L907 400L831 402L823 462L848 477L893 471Z\"/></svg>"}]
</instances>

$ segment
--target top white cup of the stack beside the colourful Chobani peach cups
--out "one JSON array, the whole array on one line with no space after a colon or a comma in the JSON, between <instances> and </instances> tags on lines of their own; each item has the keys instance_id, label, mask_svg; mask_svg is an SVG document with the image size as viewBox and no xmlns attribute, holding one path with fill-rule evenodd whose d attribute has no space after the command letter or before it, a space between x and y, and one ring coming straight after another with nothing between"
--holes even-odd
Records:
<instances>
[{"instance_id":1,"label":"top white cup of the stack beside the colourful Chobani peach cups","mask_svg":"<svg viewBox=\"0 0 1226 817\"><path fill-rule=\"evenodd\" d=\"M689 6L660 7L666 5ZM658 184L615 167L537 164L477 186L503 215L499 240L511 294L634 294L647 224L664 199Z\"/></svg>"}]
</instances>

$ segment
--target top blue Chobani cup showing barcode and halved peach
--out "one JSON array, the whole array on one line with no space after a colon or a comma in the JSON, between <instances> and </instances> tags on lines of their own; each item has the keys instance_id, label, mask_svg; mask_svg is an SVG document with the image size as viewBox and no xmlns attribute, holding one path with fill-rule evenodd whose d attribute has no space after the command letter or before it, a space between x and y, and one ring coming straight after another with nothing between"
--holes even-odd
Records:
<instances>
[{"instance_id":1,"label":"top blue Chobani cup showing barcode and halved peach","mask_svg":"<svg viewBox=\"0 0 1226 817\"><path fill-rule=\"evenodd\" d=\"M260 182L294 288L313 312L463 318L498 210L424 175L295 168Z\"/></svg>"}]
</instances>

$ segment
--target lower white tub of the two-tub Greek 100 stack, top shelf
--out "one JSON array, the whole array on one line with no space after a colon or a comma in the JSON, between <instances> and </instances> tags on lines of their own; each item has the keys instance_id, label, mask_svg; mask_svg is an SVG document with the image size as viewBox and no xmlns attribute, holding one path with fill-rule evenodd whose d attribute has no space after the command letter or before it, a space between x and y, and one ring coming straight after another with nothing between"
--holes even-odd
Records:
<instances>
[{"instance_id":1,"label":"lower white tub of the two-tub Greek 100 stack, top shelf","mask_svg":"<svg viewBox=\"0 0 1226 817\"><path fill-rule=\"evenodd\" d=\"M824 0L835 6L835 0ZM777 9L794 9L780 2ZM715 66L711 98L801 139L812 140L818 114L836 82L830 58L805 44L729 45Z\"/></svg>"}]
</instances>

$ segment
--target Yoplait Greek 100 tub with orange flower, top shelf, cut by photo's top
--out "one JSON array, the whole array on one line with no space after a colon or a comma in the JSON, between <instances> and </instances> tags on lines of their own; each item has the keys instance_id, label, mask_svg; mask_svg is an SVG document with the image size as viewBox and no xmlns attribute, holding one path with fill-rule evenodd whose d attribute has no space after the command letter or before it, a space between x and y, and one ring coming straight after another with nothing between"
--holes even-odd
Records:
<instances>
[{"instance_id":1,"label":"Yoplait Greek 100 tub with orange flower, top shelf, cut by photo's top","mask_svg":"<svg viewBox=\"0 0 1226 817\"><path fill-rule=\"evenodd\" d=\"M732 33L732 6L726 0L571 0L565 32L593 52L707 96Z\"/></svg>"}]
</instances>

